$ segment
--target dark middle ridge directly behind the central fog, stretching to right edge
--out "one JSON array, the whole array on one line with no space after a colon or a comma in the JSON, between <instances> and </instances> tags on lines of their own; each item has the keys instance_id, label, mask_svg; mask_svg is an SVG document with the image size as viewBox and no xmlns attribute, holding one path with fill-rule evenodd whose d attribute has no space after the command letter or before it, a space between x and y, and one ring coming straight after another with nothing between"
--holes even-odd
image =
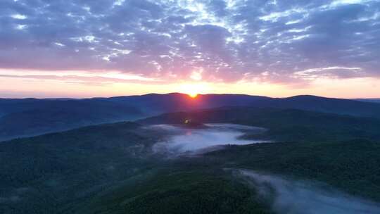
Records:
<instances>
[{"instance_id":1,"label":"dark middle ridge directly behind the central fog, stretching to right edge","mask_svg":"<svg viewBox=\"0 0 380 214\"><path fill-rule=\"evenodd\" d=\"M260 138L277 141L380 140L380 119L320 113L298 109L223 107L189 112L165 113L138 120L144 125L234 123L264 127ZM249 137L249 136L247 136Z\"/></svg>"}]
</instances>

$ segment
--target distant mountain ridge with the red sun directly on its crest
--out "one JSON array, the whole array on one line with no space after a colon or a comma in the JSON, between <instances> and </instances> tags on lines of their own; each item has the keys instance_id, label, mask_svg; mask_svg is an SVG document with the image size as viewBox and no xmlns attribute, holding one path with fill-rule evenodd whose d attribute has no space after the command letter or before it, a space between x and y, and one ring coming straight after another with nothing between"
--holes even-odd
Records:
<instances>
[{"instance_id":1,"label":"distant mountain ridge with the red sun directly on its crest","mask_svg":"<svg viewBox=\"0 0 380 214\"><path fill-rule=\"evenodd\" d=\"M262 108L292 108L306 111L337 113L361 117L380 118L380 104L350 99L333 99L321 96L300 95L288 98L250 96L245 94L200 94L196 99L186 94L146 94L143 96L119 96L107 100L130 103L147 114L189 111L222 106L255 106Z\"/></svg>"}]
</instances>

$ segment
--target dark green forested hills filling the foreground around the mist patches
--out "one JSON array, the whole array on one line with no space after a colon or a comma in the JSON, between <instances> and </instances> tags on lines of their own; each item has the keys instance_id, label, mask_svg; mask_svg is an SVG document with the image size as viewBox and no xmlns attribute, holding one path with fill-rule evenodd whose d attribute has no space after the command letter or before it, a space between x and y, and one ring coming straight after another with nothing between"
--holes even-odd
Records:
<instances>
[{"instance_id":1,"label":"dark green forested hills filling the foreground around the mist patches","mask_svg":"<svg viewBox=\"0 0 380 214\"><path fill-rule=\"evenodd\" d=\"M142 124L184 118L261 125L267 128L264 135L244 137L278 141L177 158L156 153L153 147L170 136ZM139 123L94 125L1 143L0 213L273 213L271 199L260 195L263 189L229 169L323 182L340 195L380 202L378 119L224 107L166 113ZM303 201L285 196L286 205Z\"/></svg>"}]
</instances>

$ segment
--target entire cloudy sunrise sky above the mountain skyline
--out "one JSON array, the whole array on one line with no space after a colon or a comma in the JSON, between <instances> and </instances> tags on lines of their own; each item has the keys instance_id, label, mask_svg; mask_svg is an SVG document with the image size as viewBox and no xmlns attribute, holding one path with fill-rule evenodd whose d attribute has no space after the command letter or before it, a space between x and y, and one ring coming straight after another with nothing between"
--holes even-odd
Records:
<instances>
[{"instance_id":1,"label":"entire cloudy sunrise sky above the mountain skyline","mask_svg":"<svg viewBox=\"0 0 380 214\"><path fill-rule=\"evenodd\" d=\"M380 97L379 0L1 0L0 97Z\"/></svg>"}]
</instances>

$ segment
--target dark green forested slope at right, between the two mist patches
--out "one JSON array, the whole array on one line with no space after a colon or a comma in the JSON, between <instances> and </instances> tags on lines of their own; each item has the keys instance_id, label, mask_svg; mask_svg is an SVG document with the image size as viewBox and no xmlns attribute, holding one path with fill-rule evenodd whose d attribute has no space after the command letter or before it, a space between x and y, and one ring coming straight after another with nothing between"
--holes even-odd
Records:
<instances>
[{"instance_id":1,"label":"dark green forested slope at right, between the two mist patches","mask_svg":"<svg viewBox=\"0 0 380 214\"><path fill-rule=\"evenodd\" d=\"M380 141L324 141L229 146L208 153L225 168L250 168L331 184L380 201Z\"/></svg>"}]
</instances>

